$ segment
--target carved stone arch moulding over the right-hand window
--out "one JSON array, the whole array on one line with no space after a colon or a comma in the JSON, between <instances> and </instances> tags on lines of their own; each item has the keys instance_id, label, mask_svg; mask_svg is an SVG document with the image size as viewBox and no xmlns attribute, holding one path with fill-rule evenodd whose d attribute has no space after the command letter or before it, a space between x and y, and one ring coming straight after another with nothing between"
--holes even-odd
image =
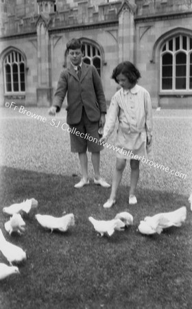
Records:
<instances>
[{"instance_id":1,"label":"carved stone arch moulding over the right-hand window","mask_svg":"<svg viewBox=\"0 0 192 309\"><path fill-rule=\"evenodd\" d=\"M169 38L173 38L173 36L180 35L180 34L192 37L191 30L184 28L184 27L176 27L176 28L173 28L172 30L165 32L154 43L154 47L152 51L152 59L150 60L150 62L152 63L158 62L160 47L163 45L163 43L169 40Z\"/></svg>"}]
</instances>

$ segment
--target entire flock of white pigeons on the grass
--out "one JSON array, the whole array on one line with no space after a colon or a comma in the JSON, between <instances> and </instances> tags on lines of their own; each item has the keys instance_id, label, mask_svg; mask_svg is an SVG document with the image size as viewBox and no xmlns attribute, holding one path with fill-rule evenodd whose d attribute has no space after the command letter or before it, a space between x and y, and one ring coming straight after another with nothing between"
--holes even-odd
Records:
<instances>
[{"instance_id":1,"label":"entire flock of white pigeons on the grass","mask_svg":"<svg viewBox=\"0 0 192 309\"><path fill-rule=\"evenodd\" d=\"M192 210L192 193L189 197L189 203L191 203ZM27 199L23 203L13 204L10 207L4 207L3 213L11 216L8 222L5 222L5 231L10 235L12 233L19 233L21 235L25 231L25 222L21 214L29 214L31 209L35 209L38 206L38 201L34 198ZM36 214L36 220L45 229L50 229L51 232L54 229L65 232L69 227L75 225L75 218L73 214L65 214L60 218L56 218L49 215ZM185 206L171 212L165 212L156 214L155 216L147 216L144 220L141 220L138 230L145 235L152 235L154 233L160 234L163 229L167 227L180 227L186 220L187 208ZM95 220L93 217L89 217L88 220L93 224L93 227L100 236L104 234L112 236L115 231L122 231L125 227L133 225L133 217L127 211L123 211L115 216L112 220ZM3 232L0 229L0 251L10 263L10 266L4 263L0 263L0 280L19 273L19 268L12 263L19 264L27 259L27 255L21 247L12 244L5 240Z\"/></svg>"}]
</instances>

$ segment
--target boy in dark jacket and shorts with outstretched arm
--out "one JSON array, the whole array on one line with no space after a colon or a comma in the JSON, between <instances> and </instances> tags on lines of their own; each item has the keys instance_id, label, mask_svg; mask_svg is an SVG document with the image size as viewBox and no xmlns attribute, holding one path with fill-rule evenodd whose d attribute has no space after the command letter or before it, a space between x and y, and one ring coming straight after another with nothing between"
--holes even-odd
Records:
<instances>
[{"instance_id":1,"label":"boy in dark jacket and shorts with outstretched arm","mask_svg":"<svg viewBox=\"0 0 192 309\"><path fill-rule=\"evenodd\" d=\"M87 65L82 61L82 43L73 38L67 43L67 52L71 66L60 74L58 88L56 90L53 105L49 109L49 115L56 115L60 111L62 102L67 93L67 124L71 128L80 131L80 135L70 134L71 152L78 152L82 168L82 179L75 185L76 188L88 185L88 158L86 150L91 152L91 161L95 172L94 183L102 187L110 187L99 172L100 150L102 146L84 138L93 137L99 141L99 126L105 124L106 100L101 79L97 69L93 65Z\"/></svg>"}]
</instances>

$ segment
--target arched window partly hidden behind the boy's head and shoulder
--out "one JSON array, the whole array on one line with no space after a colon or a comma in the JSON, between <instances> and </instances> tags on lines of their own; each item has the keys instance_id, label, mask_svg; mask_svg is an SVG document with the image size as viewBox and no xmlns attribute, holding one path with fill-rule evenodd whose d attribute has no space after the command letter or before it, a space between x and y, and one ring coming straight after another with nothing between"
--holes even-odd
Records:
<instances>
[{"instance_id":1,"label":"arched window partly hidden behind the boy's head and shoulder","mask_svg":"<svg viewBox=\"0 0 192 309\"><path fill-rule=\"evenodd\" d=\"M101 76L101 54L99 49L95 45L83 42L83 51L83 61L88 65L95 65L97 72Z\"/></svg>"}]
</instances>

